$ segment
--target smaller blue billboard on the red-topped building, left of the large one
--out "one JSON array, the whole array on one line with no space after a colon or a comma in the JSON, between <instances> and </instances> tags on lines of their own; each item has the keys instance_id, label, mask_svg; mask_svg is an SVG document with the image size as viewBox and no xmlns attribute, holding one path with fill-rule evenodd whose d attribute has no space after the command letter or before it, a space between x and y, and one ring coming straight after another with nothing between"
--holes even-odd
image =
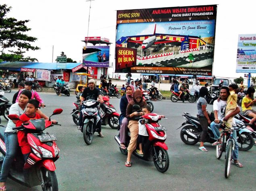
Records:
<instances>
[{"instance_id":1,"label":"smaller blue billboard on the red-topped building, left of the large one","mask_svg":"<svg viewBox=\"0 0 256 191\"><path fill-rule=\"evenodd\" d=\"M109 67L109 46L83 47L83 66Z\"/></svg>"}]
</instances>

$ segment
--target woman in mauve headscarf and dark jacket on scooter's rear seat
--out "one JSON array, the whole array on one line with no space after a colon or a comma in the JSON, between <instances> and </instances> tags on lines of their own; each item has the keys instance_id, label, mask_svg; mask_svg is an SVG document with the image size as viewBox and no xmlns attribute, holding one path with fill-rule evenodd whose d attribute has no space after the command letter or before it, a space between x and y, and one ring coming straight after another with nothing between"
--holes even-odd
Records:
<instances>
[{"instance_id":1,"label":"woman in mauve headscarf and dark jacket on scooter's rear seat","mask_svg":"<svg viewBox=\"0 0 256 191\"><path fill-rule=\"evenodd\" d=\"M134 93L134 87L133 85L127 85L126 87L126 95L123 95L121 100L120 100L120 110L121 110L121 115L119 117L119 124L120 126L120 148L121 149L126 149L125 146L125 137L126 137L126 132L127 132L127 126L129 120L126 118L126 109L131 100L133 100L133 93Z\"/></svg>"}]
</instances>

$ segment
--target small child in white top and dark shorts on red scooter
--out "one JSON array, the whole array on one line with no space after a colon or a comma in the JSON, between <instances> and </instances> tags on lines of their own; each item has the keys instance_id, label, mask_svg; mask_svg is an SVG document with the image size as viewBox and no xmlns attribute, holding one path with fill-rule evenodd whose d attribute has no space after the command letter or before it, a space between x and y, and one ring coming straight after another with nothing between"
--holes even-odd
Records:
<instances>
[{"instance_id":1,"label":"small child in white top and dark shorts on red scooter","mask_svg":"<svg viewBox=\"0 0 256 191\"><path fill-rule=\"evenodd\" d=\"M143 114L150 114L150 106L144 106L142 108L142 112ZM139 137L137 142L139 143L139 150L136 150L137 153L142 154L142 144L144 142L146 142L146 140L148 140L148 132L146 130L146 126L145 126L145 120L139 120Z\"/></svg>"}]
</instances>

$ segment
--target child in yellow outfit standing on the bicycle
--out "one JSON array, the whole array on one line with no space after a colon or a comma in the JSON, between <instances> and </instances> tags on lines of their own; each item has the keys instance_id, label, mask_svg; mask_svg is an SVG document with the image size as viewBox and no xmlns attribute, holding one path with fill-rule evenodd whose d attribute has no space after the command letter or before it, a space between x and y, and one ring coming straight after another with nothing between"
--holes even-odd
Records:
<instances>
[{"instance_id":1,"label":"child in yellow outfit standing on the bicycle","mask_svg":"<svg viewBox=\"0 0 256 191\"><path fill-rule=\"evenodd\" d=\"M227 98L227 106L226 106L225 116L227 116L228 114L231 114L237 108L237 94L235 93L235 89L237 89L237 88L238 88L238 86L235 83L232 83L229 85L230 95ZM226 127L231 128L232 123L233 123L233 117L230 117L226 121Z\"/></svg>"}]
</instances>

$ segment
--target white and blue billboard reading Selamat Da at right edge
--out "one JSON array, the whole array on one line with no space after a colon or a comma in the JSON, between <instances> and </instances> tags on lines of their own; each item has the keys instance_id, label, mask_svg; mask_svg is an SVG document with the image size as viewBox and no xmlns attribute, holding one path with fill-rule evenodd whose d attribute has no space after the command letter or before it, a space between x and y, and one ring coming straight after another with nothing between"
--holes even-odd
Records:
<instances>
[{"instance_id":1,"label":"white and blue billboard reading Selamat Da at right edge","mask_svg":"<svg viewBox=\"0 0 256 191\"><path fill-rule=\"evenodd\" d=\"M238 35L237 73L256 73L256 34Z\"/></svg>"}]
</instances>

